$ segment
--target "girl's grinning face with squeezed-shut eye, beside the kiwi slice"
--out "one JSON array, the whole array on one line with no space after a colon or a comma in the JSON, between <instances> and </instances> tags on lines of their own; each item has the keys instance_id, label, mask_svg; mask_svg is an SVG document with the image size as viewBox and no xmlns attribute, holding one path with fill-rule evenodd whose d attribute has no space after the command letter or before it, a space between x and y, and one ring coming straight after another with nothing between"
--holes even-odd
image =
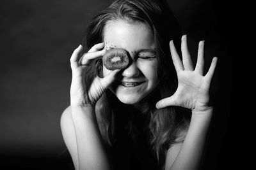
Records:
<instances>
[{"instance_id":1,"label":"girl's grinning face with squeezed-shut eye, beside the kiwi slice","mask_svg":"<svg viewBox=\"0 0 256 170\"><path fill-rule=\"evenodd\" d=\"M122 103L140 102L157 85L157 56L152 33L144 24L115 20L105 27L104 43L106 50L123 48L131 60L109 89ZM109 72L103 65L103 76Z\"/></svg>"}]
</instances>

